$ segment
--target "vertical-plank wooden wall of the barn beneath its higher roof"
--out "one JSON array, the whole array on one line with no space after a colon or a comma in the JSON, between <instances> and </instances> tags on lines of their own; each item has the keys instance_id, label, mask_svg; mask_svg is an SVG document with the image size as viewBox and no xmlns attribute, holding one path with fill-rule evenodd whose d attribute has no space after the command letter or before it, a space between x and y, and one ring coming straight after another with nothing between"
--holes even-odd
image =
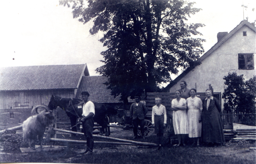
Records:
<instances>
[{"instance_id":1,"label":"vertical-plank wooden wall of the barn beneath its higher roof","mask_svg":"<svg viewBox=\"0 0 256 164\"><path fill-rule=\"evenodd\" d=\"M26 109L35 105L48 105L53 95L75 97L74 89L0 91L0 109Z\"/></svg>"}]
</instances>

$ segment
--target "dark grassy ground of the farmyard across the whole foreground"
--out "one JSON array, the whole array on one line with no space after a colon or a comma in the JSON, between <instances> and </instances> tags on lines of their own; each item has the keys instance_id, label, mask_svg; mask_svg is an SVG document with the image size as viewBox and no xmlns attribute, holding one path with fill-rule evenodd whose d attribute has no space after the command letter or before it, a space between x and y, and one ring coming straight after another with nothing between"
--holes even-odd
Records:
<instances>
[{"instance_id":1,"label":"dark grassy ground of the farmyard across the whole foreground","mask_svg":"<svg viewBox=\"0 0 256 164\"><path fill-rule=\"evenodd\" d=\"M97 130L93 131L96 134ZM175 135L174 135L175 136ZM111 127L110 137L133 140L133 130ZM84 135L70 136L68 133L58 133L58 139L73 139L85 141ZM94 141L112 141L94 137ZM133 141L157 143L154 134L143 140ZM205 163L205 164L255 164L255 141L227 141L225 146L192 147L187 142L185 147L177 147L177 139L172 144L167 144L167 136L164 134L164 147L157 150L155 146L112 145L94 144L93 156L89 158L79 153L85 150L86 144L55 141L53 145L65 146L61 151L27 152L27 153L0 153L1 162L49 162L49 163L104 163L104 164L153 164L153 163ZM115 141L116 142L116 141ZM49 144L49 143L48 143ZM253 148L250 148L253 147ZM40 149L40 148L37 148ZM104 159L104 161L102 160ZM143 160L144 159L144 160ZM143 162L143 161L144 162ZM212 162L213 160L213 162Z\"/></svg>"}]
</instances>

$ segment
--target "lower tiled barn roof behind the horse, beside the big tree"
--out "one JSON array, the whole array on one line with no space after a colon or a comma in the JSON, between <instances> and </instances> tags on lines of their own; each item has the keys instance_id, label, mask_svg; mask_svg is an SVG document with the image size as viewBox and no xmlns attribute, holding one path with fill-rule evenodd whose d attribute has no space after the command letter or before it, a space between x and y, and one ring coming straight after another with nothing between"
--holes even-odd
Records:
<instances>
[{"instance_id":1,"label":"lower tiled barn roof behind the horse, beside the big tree","mask_svg":"<svg viewBox=\"0 0 256 164\"><path fill-rule=\"evenodd\" d=\"M103 84L108 81L105 76L83 76L79 89L76 92L76 98L82 99L81 93L87 91L90 93L90 101L99 103L119 103L120 97L114 98L111 90Z\"/></svg>"}]
</instances>

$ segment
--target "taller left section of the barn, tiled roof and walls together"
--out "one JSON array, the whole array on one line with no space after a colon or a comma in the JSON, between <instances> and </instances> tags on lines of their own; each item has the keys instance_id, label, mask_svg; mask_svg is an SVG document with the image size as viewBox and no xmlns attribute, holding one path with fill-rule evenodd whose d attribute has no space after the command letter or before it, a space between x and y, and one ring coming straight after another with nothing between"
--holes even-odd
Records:
<instances>
[{"instance_id":1,"label":"taller left section of the barn, tiled roof and walls together","mask_svg":"<svg viewBox=\"0 0 256 164\"><path fill-rule=\"evenodd\" d=\"M75 97L83 76L89 76L86 64L0 68L0 129L22 123L35 105L48 105L52 94Z\"/></svg>"}]
</instances>

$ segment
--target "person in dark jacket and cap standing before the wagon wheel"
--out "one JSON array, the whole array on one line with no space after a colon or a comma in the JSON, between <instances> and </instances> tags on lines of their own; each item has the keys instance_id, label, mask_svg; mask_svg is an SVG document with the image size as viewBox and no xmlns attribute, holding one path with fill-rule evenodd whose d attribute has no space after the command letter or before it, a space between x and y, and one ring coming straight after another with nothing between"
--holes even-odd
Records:
<instances>
[{"instance_id":1,"label":"person in dark jacket and cap standing before the wagon wheel","mask_svg":"<svg viewBox=\"0 0 256 164\"><path fill-rule=\"evenodd\" d=\"M145 115L148 112L147 107L140 102L140 97L135 97L135 102L131 104L130 107L130 118L132 119L132 124L134 125L133 131L134 131L134 138L137 139L137 133L138 133L138 126L140 124L141 127L141 135L142 138L145 139L144 136L144 119Z\"/></svg>"}]
</instances>

